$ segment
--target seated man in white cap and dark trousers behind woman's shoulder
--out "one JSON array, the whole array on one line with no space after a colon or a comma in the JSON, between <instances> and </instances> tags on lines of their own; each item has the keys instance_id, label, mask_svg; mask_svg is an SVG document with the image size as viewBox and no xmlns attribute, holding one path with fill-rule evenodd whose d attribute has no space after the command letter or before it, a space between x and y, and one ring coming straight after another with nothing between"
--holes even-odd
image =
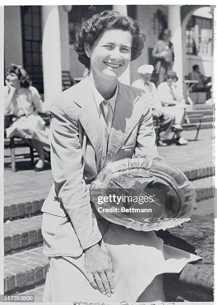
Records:
<instances>
[{"instance_id":1,"label":"seated man in white cap and dark trousers behind woman's shoulder","mask_svg":"<svg viewBox=\"0 0 217 305\"><path fill-rule=\"evenodd\" d=\"M168 144L165 140L168 140L169 133L174 121L174 116L170 114L163 114L163 107L159 99L157 99L157 88L153 82L151 82L151 77L154 67L152 65L142 65L138 68L137 72L140 77L132 83L133 87L140 88L144 90L147 100L152 108L152 116L154 118L160 118L160 130L158 141L159 146L167 146Z\"/></svg>"}]
</instances>

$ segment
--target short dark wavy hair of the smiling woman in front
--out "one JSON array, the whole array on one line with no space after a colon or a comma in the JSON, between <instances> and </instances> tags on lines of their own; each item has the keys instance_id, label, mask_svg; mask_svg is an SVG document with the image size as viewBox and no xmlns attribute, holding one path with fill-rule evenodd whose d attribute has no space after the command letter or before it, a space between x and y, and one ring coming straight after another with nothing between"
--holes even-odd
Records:
<instances>
[{"instance_id":1,"label":"short dark wavy hair of the smiling woman in front","mask_svg":"<svg viewBox=\"0 0 217 305\"><path fill-rule=\"evenodd\" d=\"M83 20L81 28L76 34L74 50L78 53L78 60L86 68L90 69L90 58L85 53L84 42L92 48L99 35L110 29L129 31L132 35L131 60L135 60L141 55L145 35L140 31L137 21L116 11L104 10L94 14L90 19Z\"/></svg>"}]
</instances>

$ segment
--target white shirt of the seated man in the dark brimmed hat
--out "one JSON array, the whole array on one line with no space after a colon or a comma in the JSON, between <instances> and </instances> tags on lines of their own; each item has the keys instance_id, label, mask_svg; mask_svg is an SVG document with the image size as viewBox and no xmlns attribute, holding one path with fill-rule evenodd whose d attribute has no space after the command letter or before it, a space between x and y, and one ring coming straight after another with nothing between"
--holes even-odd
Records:
<instances>
[{"instance_id":1,"label":"white shirt of the seated man in the dark brimmed hat","mask_svg":"<svg viewBox=\"0 0 217 305\"><path fill-rule=\"evenodd\" d=\"M181 88L174 83L171 87L167 82L161 83L157 89L157 98L164 103L170 103L174 100L181 102L184 99Z\"/></svg>"}]
</instances>

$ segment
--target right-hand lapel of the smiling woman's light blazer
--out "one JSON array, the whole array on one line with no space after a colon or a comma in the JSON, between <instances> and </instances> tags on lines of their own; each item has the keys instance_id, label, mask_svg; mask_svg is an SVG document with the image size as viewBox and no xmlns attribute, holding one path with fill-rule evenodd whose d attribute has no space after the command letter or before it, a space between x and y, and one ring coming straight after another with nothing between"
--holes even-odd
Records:
<instances>
[{"instance_id":1,"label":"right-hand lapel of the smiling woman's light blazer","mask_svg":"<svg viewBox=\"0 0 217 305\"><path fill-rule=\"evenodd\" d=\"M114 156L141 118L145 106L147 107L144 99L141 100L139 101L139 96L128 86L119 83L108 144L108 160Z\"/></svg>"}]
</instances>

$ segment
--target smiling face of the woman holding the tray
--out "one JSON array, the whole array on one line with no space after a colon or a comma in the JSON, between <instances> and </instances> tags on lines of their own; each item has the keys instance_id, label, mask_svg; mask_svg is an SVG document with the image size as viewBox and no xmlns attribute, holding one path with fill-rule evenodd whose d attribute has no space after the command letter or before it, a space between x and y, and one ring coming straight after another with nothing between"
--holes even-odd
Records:
<instances>
[{"instance_id":1,"label":"smiling face of the woman holding the tray","mask_svg":"<svg viewBox=\"0 0 217 305\"><path fill-rule=\"evenodd\" d=\"M121 29L111 29L101 34L92 49L86 48L90 69L98 78L118 78L131 59L132 35Z\"/></svg>"}]
</instances>

